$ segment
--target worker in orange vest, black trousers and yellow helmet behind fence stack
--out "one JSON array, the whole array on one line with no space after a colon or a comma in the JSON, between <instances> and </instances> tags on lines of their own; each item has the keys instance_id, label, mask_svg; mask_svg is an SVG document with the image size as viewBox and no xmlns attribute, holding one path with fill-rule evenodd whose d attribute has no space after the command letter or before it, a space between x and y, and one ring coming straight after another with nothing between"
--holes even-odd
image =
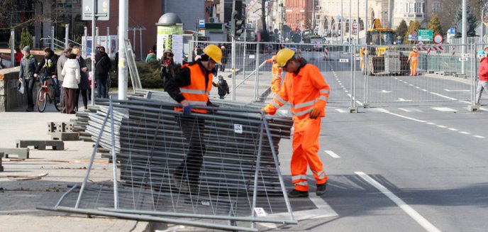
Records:
<instances>
[{"instance_id":1,"label":"worker in orange vest, black trousers and yellow helmet behind fence stack","mask_svg":"<svg viewBox=\"0 0 488 232\"><path fill-rule=\"evenodd\" d=\"M206 114L206 109L195 109L192 106L215 106L209 101L212 87L212 74L216 64L221 64L222 51L216 45L204 48L201 58L182 67L172 79L169 79L166 91L182 107L175 111L183 114L175 116L183 136L189 142L189 150L176 168L173 175L174 185L181 191L198 192L199 175L203 163L205 144L205 121L198 114Z\"/></svg>"}]
</instances>

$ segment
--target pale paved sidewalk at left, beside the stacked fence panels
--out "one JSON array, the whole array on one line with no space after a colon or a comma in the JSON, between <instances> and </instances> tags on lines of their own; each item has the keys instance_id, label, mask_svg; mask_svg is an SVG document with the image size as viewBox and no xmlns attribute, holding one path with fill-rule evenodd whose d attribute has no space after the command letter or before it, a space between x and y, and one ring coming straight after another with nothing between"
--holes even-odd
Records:
<instances>
[{"instance_id":1,"label":"pale paved sidewalk at left, beside the stacked fence panels","mask_svg":"<svg viewBox=\"0 0 488 232\"><path fill-rule=\"evenodd\" d=\"M0 148L15 148L17 139L50 140L48 121L69 121L74 115L57 112L0 113ZM42 211L35 206L54 206L69 184L79 184L87 173L93 143L65 141L65 150L30 149L28 160L4 158L0 172L0 231L145 231L147 222ZM97 155L90 180L111 180L112 165ZM42 179L12 180L9 176Z\"/></svg>"}]
</instances>

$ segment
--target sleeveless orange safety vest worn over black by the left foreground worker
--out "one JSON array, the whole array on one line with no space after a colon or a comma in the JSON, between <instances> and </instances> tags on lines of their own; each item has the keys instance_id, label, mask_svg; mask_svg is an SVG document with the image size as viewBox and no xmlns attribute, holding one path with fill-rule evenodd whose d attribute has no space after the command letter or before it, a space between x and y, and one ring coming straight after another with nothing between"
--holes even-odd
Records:
<instances>
[{"instance_id":1,"label":"sleeveless orange safety vest worn over black by the left foreground worker","mask_svg":"<svg viewBox=\"0 0 488 232\"><path fill-rule=\"evenodd\" d=\"M186 99L192 106L206 106L209 101L210 90L212 89L212 79L214 74L209 73L209 82L205 83L205 74L201 71L200 65L194 63L193 65L183 65L190 70L190 84L184 87L179 87L184 99ZM206 86L206 88L205 88ZM174 107L175 111L183 111L181 107ZM193 112L206 114L206 109L192 109Z\"/></svg>"}]
</instances>

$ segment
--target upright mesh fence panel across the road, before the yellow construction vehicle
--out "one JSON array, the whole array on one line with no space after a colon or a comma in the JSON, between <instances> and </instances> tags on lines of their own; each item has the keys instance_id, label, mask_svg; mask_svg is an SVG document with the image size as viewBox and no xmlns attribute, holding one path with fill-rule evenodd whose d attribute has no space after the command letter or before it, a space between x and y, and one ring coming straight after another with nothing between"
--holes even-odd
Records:
<instances>
[{"instance_id":1,"label":"upright mesh fence panel across the road, before the yellow construction vehicle","mask_svg":"<svg viewBox=\"0 0 488 232\"><path fill-rule=\"evenodd\" d=\"M409 60L413 48L405 45L365 46L367 68L365 104L402 106L411 104L470 104L472 92L472 48L470 45L443 45L443 50L429 46L418 49L417 67ZM465 51L465 53L461 53ZM411 72L411 69L416 70ZM463 71L464 70L464 71ZM361 84L358 82L356 86Z\"/></svg>"}]
</instances>

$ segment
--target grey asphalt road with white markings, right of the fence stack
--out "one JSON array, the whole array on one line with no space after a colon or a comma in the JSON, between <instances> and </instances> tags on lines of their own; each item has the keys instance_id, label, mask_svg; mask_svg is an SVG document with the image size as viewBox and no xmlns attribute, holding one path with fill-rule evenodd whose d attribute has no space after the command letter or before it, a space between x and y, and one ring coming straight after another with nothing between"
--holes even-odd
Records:
<instances>
[{"instance_id":1,"label":"grey asphalt road with white markings, right of the fence stack","mask_svg":"<svg viewBox=\"0 0 488 232\"><path fill-rule=\"evenodd\" d=\"M277 230L487 231L488 106L467 111L469 80L370 77L371 108L358 97L359 113L349 114L350 66L334 59L341 56L331 54L330 65L309 59L327 69L332 89L319 155L329 177L321 198L336 214ZM289 143L280 144L284 175Z\"/></svg>"}]
</instances>

